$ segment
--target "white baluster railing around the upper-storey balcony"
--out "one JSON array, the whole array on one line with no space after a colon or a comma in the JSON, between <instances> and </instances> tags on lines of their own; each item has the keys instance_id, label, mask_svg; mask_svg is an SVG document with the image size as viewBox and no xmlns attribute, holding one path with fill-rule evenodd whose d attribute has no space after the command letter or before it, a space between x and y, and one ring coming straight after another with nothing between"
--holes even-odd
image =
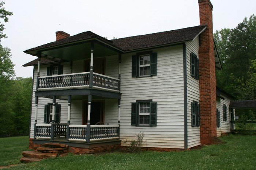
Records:
<instances>
[{"instance_id":1,"label":"white baluster railing around the upper-storey balcony","mask_svg":"<svg viewBox=\"0 0 256 170\"><path fill-rule=\"evenodd\" d=\"M56 90L70 88L89 88L90 72L61 74L39 77L38 90ZM93 73L93 87L120 91L120 80L117 78Z\"/></svg>"}]
</instances>

